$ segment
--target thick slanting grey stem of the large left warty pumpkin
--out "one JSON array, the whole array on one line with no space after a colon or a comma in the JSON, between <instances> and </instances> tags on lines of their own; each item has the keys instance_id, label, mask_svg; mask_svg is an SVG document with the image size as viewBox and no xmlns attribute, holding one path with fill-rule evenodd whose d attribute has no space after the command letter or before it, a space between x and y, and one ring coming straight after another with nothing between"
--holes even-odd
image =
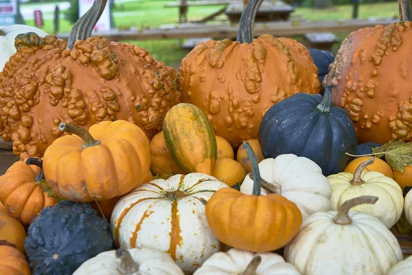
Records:
<instances>
[{"instance_id":1,"label":"thick slanting grey stem of the large left warty pumpkin","mask_svg":"<svg viewBox=\"0 0 412 275\"><path fill-rule=\"evenodd\" d=\"M67 49L73 49L77 40L86 40L91 36L91 32L100 19L107 0L95 0L90 10L88 10L71 28Z\"/></svg>"}]
</instances>

